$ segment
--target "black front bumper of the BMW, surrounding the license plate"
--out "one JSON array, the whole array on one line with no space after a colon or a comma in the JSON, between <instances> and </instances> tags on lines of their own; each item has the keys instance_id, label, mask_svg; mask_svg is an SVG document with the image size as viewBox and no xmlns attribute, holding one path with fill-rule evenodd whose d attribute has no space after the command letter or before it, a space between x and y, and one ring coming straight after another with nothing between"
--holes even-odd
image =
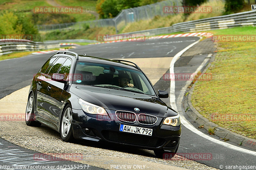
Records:
<instances>
[{"instance_id":1,"label":"black front bumper of the BMW, surrounding the license plate","mask_svg":"<svg viewBox=\"0 0 256 170\"><path fill-rule=\"evenodd\" d=\"M180 143L181 126L163 125L164 118L158 117L154 125L122 122L116 118L115 110L106 109L109 116L91 115L83 110L73 109L72 127L76 139L104 140L149 150L163 149L175 152ZM153 129L152 136L120 132L120 124Z\"/></svg>"}]
</instances>

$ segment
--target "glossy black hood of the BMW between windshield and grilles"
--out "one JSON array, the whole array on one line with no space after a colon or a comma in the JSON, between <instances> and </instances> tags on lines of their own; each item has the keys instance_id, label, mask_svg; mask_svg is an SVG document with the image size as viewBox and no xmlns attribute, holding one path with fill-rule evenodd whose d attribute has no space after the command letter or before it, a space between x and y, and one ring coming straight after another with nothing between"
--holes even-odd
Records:
<instances>
[{"instance_id":1,"label":"glossy black hood of the BMW between windshield and grilles","mask_svg":"<svg viewBox=\"0 0 256 170\"><path fill-rule=\"evenodd\" d=\"M160 117L177 115L172 108L154 96L88 85L71 85L69 90L83 100L105 109L147 113ZM136 112L135 107L140 111Z\"/></svg>"}]
</instances>

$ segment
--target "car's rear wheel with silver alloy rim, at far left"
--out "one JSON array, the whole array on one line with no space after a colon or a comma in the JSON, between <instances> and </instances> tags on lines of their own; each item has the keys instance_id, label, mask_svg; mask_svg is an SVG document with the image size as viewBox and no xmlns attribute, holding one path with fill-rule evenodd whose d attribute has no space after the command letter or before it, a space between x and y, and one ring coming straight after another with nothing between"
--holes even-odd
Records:
<instances>
[{"instance_id":1,"label":"car's rear wheel with silver alloy rim, at far left","mask_svg":"<svg viewBox=\"0 0 256 170\"><path fill-rule=\"evenodd\" d=\"M28 104L26 107L26 115L25 121L28 126L41 126L41 123L36 122L35 120L35 113L34 113L34 97L33 94L30 94L28 98Z\"/></svg>"}]
</instances>

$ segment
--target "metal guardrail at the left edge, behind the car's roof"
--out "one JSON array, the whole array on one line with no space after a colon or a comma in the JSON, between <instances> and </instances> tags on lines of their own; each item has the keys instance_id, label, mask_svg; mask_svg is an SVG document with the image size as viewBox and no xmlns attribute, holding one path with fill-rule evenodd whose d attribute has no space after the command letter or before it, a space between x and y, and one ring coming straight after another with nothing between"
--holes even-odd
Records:
<instances>
[{"instance_id":1,"label":"metal guardrail at the left edge, behind the car's roof","mask_svg":"<svg viewBox=\"0 0 256 170\"><path fill-rule=\"evenodd\" d=\"M35 42L21 39L0 39L0 56L15 51L36 51L60 48L59 42Z\"/></svg>"}]
</instances>

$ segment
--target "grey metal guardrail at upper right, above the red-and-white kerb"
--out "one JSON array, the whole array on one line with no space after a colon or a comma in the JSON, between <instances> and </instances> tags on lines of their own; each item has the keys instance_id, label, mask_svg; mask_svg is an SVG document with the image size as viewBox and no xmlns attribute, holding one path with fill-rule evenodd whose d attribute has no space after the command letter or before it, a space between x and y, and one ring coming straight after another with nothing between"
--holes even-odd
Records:
<instances>
[{"instance_id":1,"label":"grey metal guardrail at upper right, above the red-and-white kerb","mask_svg":"<svg viewBox=\"0 0 256 170\"><path fill-rule=\"evenodd\" d=\"M256 10L246 11L230 15L199 19L194 21L181 22L173 24L169 27L155 28L142 31L134 31L126 34L143 34L145 36L153 36L159 34L168 34L175 32L199 32L214 29L225 29L236 26L256 26ZM119 36L120 34L116 34Z\"/></svg>"}]
</instances>

